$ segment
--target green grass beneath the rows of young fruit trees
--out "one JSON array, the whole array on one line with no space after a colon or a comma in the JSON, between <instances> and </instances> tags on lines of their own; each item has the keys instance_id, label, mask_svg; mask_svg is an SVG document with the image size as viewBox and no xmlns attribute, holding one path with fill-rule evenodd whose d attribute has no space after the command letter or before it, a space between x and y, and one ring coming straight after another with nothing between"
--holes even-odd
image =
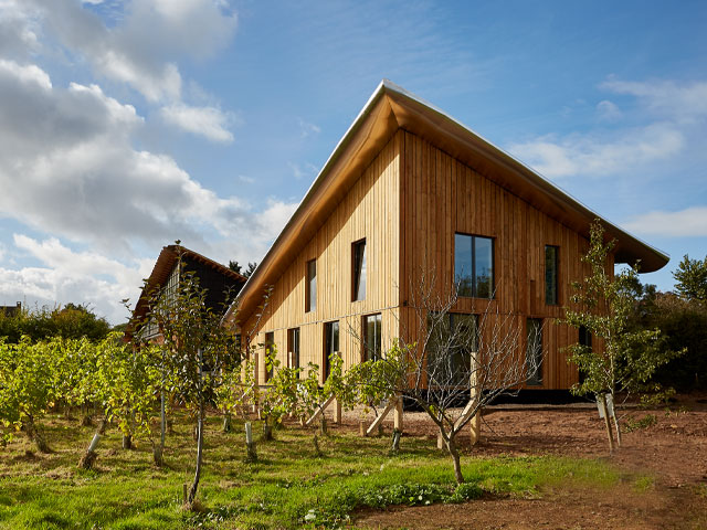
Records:
<instances>
[{"instance_id":1,"label":"green grass beneath the rows of young fruit trees","mask_svg":"<svg viewBox=\"0 0 707 530\"><path fill-rule=\"evenodd\" d=\"M545 486L611 487L620 474L602 460L558 457L463 457L465 485L456 487L450 457L425 439L404 437L389 455L390 439L361 438L333 430L320 437L297 427L258 443L258 462L246 464L242 424L220 432L208 422L199 511L181 507L196 458L191 426L177 418L168 437L167 466L151 464L149 443L120 449L115 431L99 447L97 468L76 463L91 427L52 417L45 433L54 453L25 453L17 439L0 449L0 529L336 528L361 507L462 502L482 495L536 497ZM640 488L642 485L636 485Z\"/></svg>"}]
</instances>

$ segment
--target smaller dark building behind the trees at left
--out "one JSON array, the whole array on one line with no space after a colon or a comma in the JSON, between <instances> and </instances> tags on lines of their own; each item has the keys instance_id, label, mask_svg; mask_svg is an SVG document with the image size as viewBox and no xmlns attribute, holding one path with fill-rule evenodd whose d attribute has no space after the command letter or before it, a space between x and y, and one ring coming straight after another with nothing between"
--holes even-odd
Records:
<instances>
[{"instance_id":1,"label":"smaller dark building behind the trees at left","mask_svg":"<svg viewBox=\"0 0 707 530\"><path fill-rule=\"evenodd\" d=\"M131 339L136 333L143 340L159 340L160 332L156 322L149 319L146 321L150 297L152 293L162 288L169 293L170 287L173 288L179 283L179 275L186 272L193 273L199 279L200 287L207 289L207 306L219 311L225 310L229 299L240 292L247 279L229 267L181 245L165 246L135 305L125 332L126 340Z\"/></svg>"}]
</instances>

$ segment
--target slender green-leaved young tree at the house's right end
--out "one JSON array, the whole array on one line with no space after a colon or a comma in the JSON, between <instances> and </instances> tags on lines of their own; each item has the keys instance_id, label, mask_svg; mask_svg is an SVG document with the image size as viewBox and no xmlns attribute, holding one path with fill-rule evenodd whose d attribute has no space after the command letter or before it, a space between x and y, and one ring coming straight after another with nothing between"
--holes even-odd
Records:
<instances>
[{"instance_id":1,"label":"slender green-leaved young tree at the house's right end","mask_svg":"<svg viewBox=\"0 0 707 530\"><path fill-rule=\"evenodd\" d=\"M616 403L616 394L641 393L650 390L648 383L656 369L683 351L667 349L658 329L631 326L635 307L635 286L639 284L637 266L624 268L618 275L608 271L608 257L615 241L604 242L604 229L595 221L590 229L590 246L582 261L590 274L573 284L574 308L568 308L562 322L583 327L601 339L603 351L589 346L572 344L569 362L578 365L582 382L572 388L579 395L594 394L604 411L609 448L613 451L613 436L606 410L605 395ZM621 428L614 416L618 443Z\"/></svg>"}]
</instances>

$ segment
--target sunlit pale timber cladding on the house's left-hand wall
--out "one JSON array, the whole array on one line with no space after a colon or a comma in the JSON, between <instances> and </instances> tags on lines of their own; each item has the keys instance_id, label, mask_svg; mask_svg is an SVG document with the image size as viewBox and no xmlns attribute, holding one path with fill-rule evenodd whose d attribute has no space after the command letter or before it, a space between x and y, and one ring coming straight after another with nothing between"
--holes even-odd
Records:
<instances>
[{"instance_id":1,"label":"sunlit pale timber cladding on the house's left-hand wall","mask_svg":"<svg viewBox=\"0 0 707 530\"><path fill-rule=\"evenodd\" d=\"M274 332L277 358L286 365L287 330L299 328L299 365L324 364L325 324L339 321L339 350L344 367L360 362L363 315L382 316L382 348L399 336L400 255L400 153L399 130L356 180L327 221L275 282L263 318L255 316L242 327L254 330L252 344L264 343ZM351 244L366 239L366 298L351 300ZM316 308L305 312L305 266L316 259ZM258 382L264 381L262 347L258 348Z\"/></svg>"}]
</instances>

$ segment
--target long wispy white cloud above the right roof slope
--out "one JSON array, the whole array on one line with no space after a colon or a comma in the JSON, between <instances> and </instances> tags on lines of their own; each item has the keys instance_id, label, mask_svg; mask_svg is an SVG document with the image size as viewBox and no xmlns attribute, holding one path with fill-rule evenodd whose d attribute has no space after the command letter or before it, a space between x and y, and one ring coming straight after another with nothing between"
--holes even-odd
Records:
<instances>
[{"instance_id":1,"label":"long wispy white cloud above the right roof slope","mask_svg":"<svg viewBox=\"0 0 707 530\"><path fill-rule=\"evenodd\" d=\"M627 129L612 136L615 137L571 135L557 139L546 136L513 144L508 150L541 174L559 179L578 174L618 174L665 160L678 153L684 145L680 130L667 123Z\"/></svg>"}]
</instances>

